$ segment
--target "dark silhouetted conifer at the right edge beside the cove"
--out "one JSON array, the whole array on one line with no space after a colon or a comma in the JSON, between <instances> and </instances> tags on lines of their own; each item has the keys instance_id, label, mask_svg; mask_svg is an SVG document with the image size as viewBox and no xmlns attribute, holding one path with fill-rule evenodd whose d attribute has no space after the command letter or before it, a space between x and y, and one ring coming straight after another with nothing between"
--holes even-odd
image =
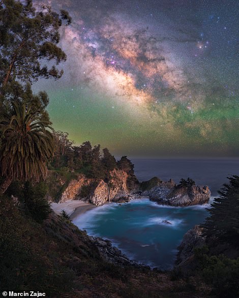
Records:
<instances>
[{"instance_id":1,"label":"dark silhouetted conifer at the right edge beside the cove","mask_svg":"<svg viewBox=\"0 0 239 298\"><path fill-rule=\"evenodd\" d=\"M216 197L212 208L207 209L210 216L202 225L204 234L212 235L222 242L239 247L239 176L232 176L224 184L220 196Z\"/></svg>"}]
</instances>

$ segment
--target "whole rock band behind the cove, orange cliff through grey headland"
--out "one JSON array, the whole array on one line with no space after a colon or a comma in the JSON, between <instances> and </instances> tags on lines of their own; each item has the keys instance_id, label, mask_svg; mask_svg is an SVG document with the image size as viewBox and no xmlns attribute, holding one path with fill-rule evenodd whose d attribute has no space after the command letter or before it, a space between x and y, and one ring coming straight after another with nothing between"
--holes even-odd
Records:
<instances>
[{"instance_id":1,"label":"whole rock band behind the cove, orange cliff through grey headland","mask_svg":"<svg viewBox=\"0 0 239 298\"><path fill-rule=\"evenodd\" d=\"M104 205L106 202L126 203L135 198L148 196L151 201L160 205L192 206L206 204L210 200L211 191L208 186L197 186L193 180L176 184L172 179L167 182L154 177L145 182L138 182L135 178L129 183L129 176L122 170L110 171L107 183L102 179L86 178L79 174L71 180L62 192L58 203L69 200L78 200L95 206ZM189 178L188 178L189 179ZM61 181L61 183L63 183ZM48 200L52 200L48 194Z\"/></svg>"}]
</instances>

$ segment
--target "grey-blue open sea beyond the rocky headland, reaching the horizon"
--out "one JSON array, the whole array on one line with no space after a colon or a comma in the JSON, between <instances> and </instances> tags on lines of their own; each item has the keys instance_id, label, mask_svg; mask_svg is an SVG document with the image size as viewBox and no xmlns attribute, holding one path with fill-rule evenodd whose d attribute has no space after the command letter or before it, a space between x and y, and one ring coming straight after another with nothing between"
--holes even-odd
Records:
<instances>
[{"instance_id":1,"label":"grey-blue open sea beyond the rocky headland, reaching the horizon","mask_svg":"<svg viewBox=\"0 0 239 298\"><path fill-rule=\"evenodd\" d=\"M225 159L132 159L135 175L139 181L159 177L163 181L172 178L176 183L181 178L195 180L197 185L208 185L212 195L218 195L226 177L239 176L239 158Z\"/></svg>"}]
</instances>

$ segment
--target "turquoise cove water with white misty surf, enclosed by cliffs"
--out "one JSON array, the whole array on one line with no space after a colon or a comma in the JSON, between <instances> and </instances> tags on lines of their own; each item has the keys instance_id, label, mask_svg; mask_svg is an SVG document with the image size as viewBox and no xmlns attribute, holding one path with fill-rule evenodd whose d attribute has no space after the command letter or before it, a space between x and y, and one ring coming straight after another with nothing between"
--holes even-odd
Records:
<instances>
[{"instance_id":1,"label":"turquoise cove water with white misty surf, enclosed by cliffs","mask_svg":"<svg viewBox=\"0 0 239 298\"><path fill-rule=\"evenodd\" d=\"M89 235L111 240L131 259L170 269L177 246L187 230L203 222L208 213L206 207L209 205L167 207L142 198L98 207L76 218L74 224Z\"/></svg>"}]
</instances>

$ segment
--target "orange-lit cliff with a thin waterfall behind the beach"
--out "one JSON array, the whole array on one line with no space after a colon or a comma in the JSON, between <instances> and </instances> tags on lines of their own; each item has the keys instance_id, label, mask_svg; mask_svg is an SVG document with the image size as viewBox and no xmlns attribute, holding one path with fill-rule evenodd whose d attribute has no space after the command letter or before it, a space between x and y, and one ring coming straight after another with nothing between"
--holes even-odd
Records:
<instances>
[{"instance_id":1,"label":"orange-lit cliff with a thin waterfall behind the beach","mask_svg":"<svg viewBox=\"0 0 239 298\"><path fill-rule=\"evenodd\" d=\"M72 180L62 193L60 203L68 200L83 200L100 206L107 201L122 203L134 198L127 186L129 175L126 172L112 170L109 174L108 183L102 179L90 179L82 174L79 175L78 179Z\"/></svg>"}]
</instances>

